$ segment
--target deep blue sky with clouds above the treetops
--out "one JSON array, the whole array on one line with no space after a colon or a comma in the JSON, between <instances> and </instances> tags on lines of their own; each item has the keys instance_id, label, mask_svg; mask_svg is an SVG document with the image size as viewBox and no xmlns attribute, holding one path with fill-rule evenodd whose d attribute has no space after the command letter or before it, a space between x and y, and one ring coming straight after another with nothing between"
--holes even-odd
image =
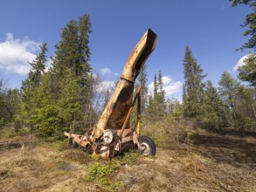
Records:
<instances>
[{"instance_id":1,"label":"deep blue sky with clouds above the treetops","mask_svg":"<svg viewBox=\"0 0 256 192\"><path fill-rule=\"evenodd\" d=\"M161 71L167 96L181 99L186 45L208 74L205 80L218 86L222 72L236 77L234 66L248 51L234 50L246 42L240 24L250 12L245 5L232 8L228 0L1 0L0 79L6 87L19 88L38 46L46 42L48 55L54 56L61 29L87 13L93 24L90 64L101 74L102 85L118 79L130 52L151 28L158 38L147 61L149 87Z\"/></svg>"}]
</instances>

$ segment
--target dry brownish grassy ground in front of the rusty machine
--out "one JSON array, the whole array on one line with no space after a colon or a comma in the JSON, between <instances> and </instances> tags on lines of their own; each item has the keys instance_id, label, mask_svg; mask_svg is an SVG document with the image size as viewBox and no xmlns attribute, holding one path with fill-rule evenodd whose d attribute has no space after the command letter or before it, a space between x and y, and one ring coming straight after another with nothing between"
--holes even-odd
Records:
<instances>
[{"instance_id":1,"label":"dry brownish grassy ground in front of the rusty machine","mask_svg":"<svg viewBox=\"0 0 256 192\"><path fill-rule=\"evenodd\" d=\"M100 161L66 142L0 147L0 191L256 191L256 139L191 132L185 143Z\"/></svg>"}]
</instances>

